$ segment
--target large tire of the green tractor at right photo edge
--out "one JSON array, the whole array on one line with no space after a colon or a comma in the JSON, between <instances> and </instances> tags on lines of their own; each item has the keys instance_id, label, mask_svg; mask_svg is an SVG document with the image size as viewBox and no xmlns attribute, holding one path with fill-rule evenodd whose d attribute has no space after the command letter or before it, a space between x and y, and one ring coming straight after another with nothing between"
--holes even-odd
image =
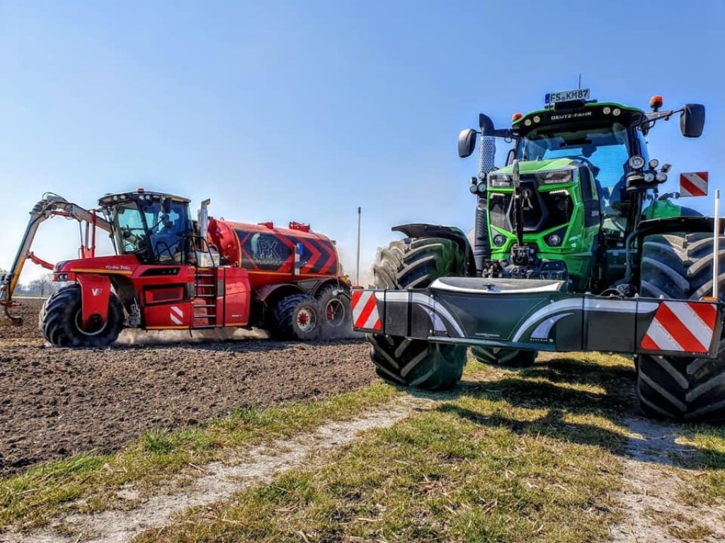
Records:
<instances>
[{"instance_id":1,"label":"large tire of the green tractor at right photo edge","mask_svg":"<svg viewBox=\"0 0 725 543\"><path fill-rule=\"evenodd\" d=\"M725 289L725 237L720 238L720 292ZM713 286L713 237L651 236L642 247L643 296L699 300ZM722 295L721 295L722 298ZM638 355L637 395L647 416L675 421L725 421L725 340L718 358Z\"/></svg>"}]
</instances>

